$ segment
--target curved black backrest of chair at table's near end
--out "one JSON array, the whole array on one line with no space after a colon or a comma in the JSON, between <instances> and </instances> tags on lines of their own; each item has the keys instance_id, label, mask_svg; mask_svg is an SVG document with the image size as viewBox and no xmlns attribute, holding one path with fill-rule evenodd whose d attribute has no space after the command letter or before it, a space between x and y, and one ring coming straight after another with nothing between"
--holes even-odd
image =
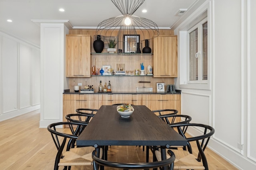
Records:
<instances>
[{"instance_id":1,"label":"curved black backrest of chair at table's near end","mask_svg":"<svg viewBox=\"0 0 256 170\"><path fill-rule=\"evenodd\" d=\"M173 163L175 160L175 155L171 150L167 151L168 158L166 160L160 160L156 162L144 162L144 163L120 163L120 162L111 162L108 160L101 159L96 156L96 151L92 152L92 160L94 170L98 169L98 165L107 166L111 168L120 168L124 170L128 169L149 169L149 168L160 168L163 166L168 166L168 170L173 170Z\"/></svg>"}]
</instances>

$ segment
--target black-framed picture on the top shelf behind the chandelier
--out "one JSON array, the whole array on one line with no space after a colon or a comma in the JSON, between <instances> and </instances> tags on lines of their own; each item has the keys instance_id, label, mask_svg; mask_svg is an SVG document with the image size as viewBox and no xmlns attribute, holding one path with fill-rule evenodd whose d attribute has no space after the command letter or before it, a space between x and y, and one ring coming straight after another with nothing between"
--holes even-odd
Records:
<instances>
[{"instance_id":1,"label":"black-framed picture on the top shelf behind the chandelier","mask_svg":"<svg viewBox=\"0 0 256 170\"><path fill-rule=\"evenodd\" d=\"M124 53L136 53L136 43L140 42L140 35L124 35Z\"/></svg>"}]
</instances>

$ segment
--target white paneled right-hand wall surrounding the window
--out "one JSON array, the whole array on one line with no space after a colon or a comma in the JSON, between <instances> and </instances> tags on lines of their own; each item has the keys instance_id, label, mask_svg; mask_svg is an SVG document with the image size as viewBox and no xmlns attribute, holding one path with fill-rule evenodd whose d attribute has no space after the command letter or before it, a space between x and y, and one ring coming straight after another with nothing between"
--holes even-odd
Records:
<instances>
[{"instance_id":1,"label":"white paneled right-hand wall surrounding the window","mask_svg":"<svg viewBox=\"0 0 256 170\"><path fill-rule=\"evenodd\" d=\"M179 36L182 27L205 9L199 8L175 34ZM180 78L176 84L182 90L182 114L191 115L192 122L213 126L215 134L208 146L244 170L256 169L255 9L255 0L209 0L211 88L181 88ZM179 55L184 55L180 45Z\"/></svg>"}]
</instances>

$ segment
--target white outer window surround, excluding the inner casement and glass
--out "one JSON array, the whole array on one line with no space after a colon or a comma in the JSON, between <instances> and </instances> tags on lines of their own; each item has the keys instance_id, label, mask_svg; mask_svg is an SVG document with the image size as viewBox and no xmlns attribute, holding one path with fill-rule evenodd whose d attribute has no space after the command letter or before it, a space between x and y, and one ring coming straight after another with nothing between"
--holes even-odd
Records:
<instances>
[{"instance_id":1,"label":"white outer window surround, excluding the inner casement and glass","mask_svg":"<svg viewBox=\"0 0 256 170\"><path fill-rule=\"evenodd\" d=\"M184 88L184 89L198 89L198 90L211 90L212 88L212 42L214 41L212 37L212 16L210 15L209 11L209 4L206 4L205 6L202 6L200 10L198 10L196 13L191 15L188 20L184 21L178 29L176 29L174 32L178 31L178 56L179 56L179 77L177 81L179 82L176 86L178 88ZM197 25L203 20L207 20L207 29L208 29L208 51L207 51L207 74L208 74L208 80L204 80L201 82L196 83L188 83L189 79L189 57L188 57L188 30L190 30L192 27Z\"/></svg>"}]
</instances>

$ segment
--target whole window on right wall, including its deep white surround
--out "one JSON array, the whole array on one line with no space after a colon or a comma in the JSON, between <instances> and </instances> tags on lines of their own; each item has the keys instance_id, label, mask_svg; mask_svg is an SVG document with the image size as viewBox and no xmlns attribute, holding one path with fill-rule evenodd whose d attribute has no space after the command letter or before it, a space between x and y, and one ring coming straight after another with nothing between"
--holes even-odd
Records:
<instances>
[{"instance_id":1,"label":"whole window on right wall, including its deep white surround","mask_svg":"<svg viewBox=\"0 0 256 170\"><path fill-rule=\"evenodd\" d=\"M198 8L174 30L179 38L179 88L211 89L213 39L209 8L209 4Z\"/></svg>"}]
</instances>

